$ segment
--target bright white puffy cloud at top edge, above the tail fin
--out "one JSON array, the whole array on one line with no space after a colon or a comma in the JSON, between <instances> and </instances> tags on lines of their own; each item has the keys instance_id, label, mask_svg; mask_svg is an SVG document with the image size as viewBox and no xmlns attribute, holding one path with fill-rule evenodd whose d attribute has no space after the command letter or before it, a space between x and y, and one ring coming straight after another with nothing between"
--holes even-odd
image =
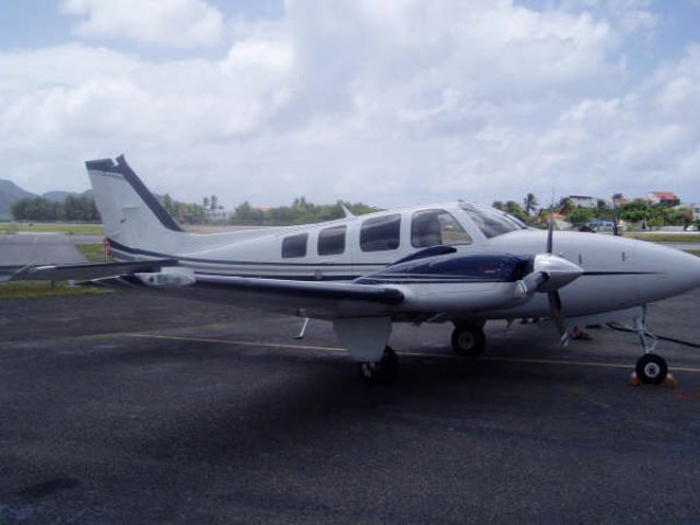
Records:
<instances>
[{"instance_id":1,"label":"bright white puffy cloud at top edge, above the tail fin","mask_svg":"<svg viewBox=\"0 0 700 525\"><path fill-rule=\"evenodd\" d=\"M223 16L202 0L63 0L67 14L85 16L73 34L118 37L168 47L217 44Z\"/></svg>"}]
</instances>

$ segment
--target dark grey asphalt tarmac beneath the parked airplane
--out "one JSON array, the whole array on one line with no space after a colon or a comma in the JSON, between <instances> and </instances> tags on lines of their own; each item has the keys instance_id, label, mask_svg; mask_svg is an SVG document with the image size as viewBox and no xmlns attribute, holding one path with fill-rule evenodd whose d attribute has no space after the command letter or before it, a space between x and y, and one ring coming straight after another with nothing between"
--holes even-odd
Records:
<instances>
[{"instance_id":1,"label":"dark grey asphalt tarmac beneath the parked airplane","mask_svg":"<svg viewBox=\"0 0 700 525\"><path fill-rule=\"evenodd\" d=\"M650 306L700 342L700 290ZM97 295L0 302L0 523L700 524L700 349L629 386L634 337L398 326L362 384L330 326Z\"/></svg>"}]
</instances>

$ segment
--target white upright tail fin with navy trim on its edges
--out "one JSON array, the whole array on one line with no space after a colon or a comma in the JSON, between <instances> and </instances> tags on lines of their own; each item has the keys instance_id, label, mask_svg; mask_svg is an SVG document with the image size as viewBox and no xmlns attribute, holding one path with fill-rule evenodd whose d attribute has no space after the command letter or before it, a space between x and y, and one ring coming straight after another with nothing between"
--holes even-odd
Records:
<instances>
[{"instance_id":1,"label":"white upright tail fin with navy trim on its edges","mask_svg":"<svg viewBox=\"0 0 700 525\"><path fill-rule=\"evenodd\" d=\"M85 162L105 236L132 248L172 247L183 229L129 167L124 155Z\"/></svg>"}]
</instances>

